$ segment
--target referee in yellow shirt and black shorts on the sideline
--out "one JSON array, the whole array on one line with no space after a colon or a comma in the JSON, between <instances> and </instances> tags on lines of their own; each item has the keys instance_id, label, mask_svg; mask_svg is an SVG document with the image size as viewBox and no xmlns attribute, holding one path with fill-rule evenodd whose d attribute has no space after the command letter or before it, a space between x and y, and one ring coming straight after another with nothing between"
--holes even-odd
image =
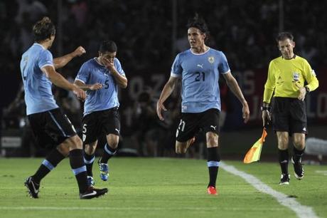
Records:
<instances>
[{"instance_id":1,"label":"referee in yellow shirt and black shorts on the sideline","mask_svg":"<svg viewBox=\"0 0 327 218\"><path fill-rule=\"evenodd\" d=\"M282 56L269 63L267 82L264 85L262 105L263 125L272 120L278 138L278 156L282 176L279 185L289 185L289 137L294 145L291 162L294 165L294 176L301 180L304 170L301 157L305 149L305 137L308 133L306 123L306 94L318 88L316 73L308 61L296 56L294 37L289 32L282 32L276 38ZM272 108L270 108L270 100ZM270 110L272 109L272 110ZM270 117L269 112L272 112Z\"/></svg>"}]
</instances>

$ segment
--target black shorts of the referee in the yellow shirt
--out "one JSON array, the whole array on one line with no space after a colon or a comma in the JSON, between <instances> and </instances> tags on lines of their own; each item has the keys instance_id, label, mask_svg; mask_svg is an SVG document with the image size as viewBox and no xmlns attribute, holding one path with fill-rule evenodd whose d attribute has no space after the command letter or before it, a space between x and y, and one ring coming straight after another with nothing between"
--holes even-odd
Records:
<instances>
[{"instance_id":1,"label":"black shorts of the referee in the yellow shirt","mask_svg":"<svg viewBox=\"0 0 327 218\"><path fill-rule=\"evenodd\" d=\"M297 98L274 97L272 104L274 131L307 134L306 103Z\"/></svg>"}]
</instances>

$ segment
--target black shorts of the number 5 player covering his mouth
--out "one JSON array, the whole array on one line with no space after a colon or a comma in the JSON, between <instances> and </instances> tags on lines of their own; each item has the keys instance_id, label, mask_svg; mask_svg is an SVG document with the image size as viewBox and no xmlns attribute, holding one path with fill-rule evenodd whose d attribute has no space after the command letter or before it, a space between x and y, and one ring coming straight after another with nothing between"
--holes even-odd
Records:
<instances>
[{"instance_id":1,"label":"black shorts of the number 5 player covering his mouth","mask_svg":"<svg viewBox=\"0 0 327 218\"><path fill-rule=\"evenodd\" d=\"M120 118L118 108L99 110L85 115L82 120L82 133L84 144L95 142L103 135L119 135Z\"/></svg>"}]
</instances>

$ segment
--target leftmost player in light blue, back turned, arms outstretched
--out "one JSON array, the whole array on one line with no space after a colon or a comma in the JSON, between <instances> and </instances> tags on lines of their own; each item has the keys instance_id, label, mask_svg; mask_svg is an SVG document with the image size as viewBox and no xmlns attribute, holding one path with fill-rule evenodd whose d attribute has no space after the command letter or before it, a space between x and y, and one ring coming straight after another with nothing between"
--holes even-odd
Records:
<instances>
[{"instance_id":1,"label":"leftmost player in light blue, back turned, arms outstretched","mask_svg":"<svg viewBox=\"0 0 327 218\"><path fill-rule=\"evenodd\" d=\"M58 108L51 91L52 83L72 90L80 99L85 99L85 91L69 83L55 68L65 66L73 57L85 53L79 47L73 53L56 58L48 51L55 39L55 26L44 17L33 26L35 43L23 53L21 77L25 92L26 113L36 140L41 147L50 146L53 150L43 160L36 173L28 177L25 186L33 198L38 198L40 182L65 157L70 158L70 167L76 177L80 199L99 197L107 189L94 189L87 185L87 173L82 157L82 140L75 133L73 125Z\"/></svg>"}]
</instances>

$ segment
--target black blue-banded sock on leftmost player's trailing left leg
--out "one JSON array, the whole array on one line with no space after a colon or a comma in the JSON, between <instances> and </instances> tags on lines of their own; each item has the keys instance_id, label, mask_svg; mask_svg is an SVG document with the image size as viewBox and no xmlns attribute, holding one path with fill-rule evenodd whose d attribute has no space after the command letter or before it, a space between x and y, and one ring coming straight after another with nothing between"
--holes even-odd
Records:
<instances>
[{"instance_id":1,"label":"black blue-banded sock on leftmost player's trailing left leg","mask_svg":"<svg viewBox=\"0 0 327 218\"><path fill-rule=\"evenodd\" d=\"M41 180L48 175L48 173L53 170L58 163L65 159L65 156L62 155L56 148L53 149L45 160L43 160L41 166L38 168L36 173L32 176L33 181L37 184L40 184Z\"/></svg>"}]
</instances>

